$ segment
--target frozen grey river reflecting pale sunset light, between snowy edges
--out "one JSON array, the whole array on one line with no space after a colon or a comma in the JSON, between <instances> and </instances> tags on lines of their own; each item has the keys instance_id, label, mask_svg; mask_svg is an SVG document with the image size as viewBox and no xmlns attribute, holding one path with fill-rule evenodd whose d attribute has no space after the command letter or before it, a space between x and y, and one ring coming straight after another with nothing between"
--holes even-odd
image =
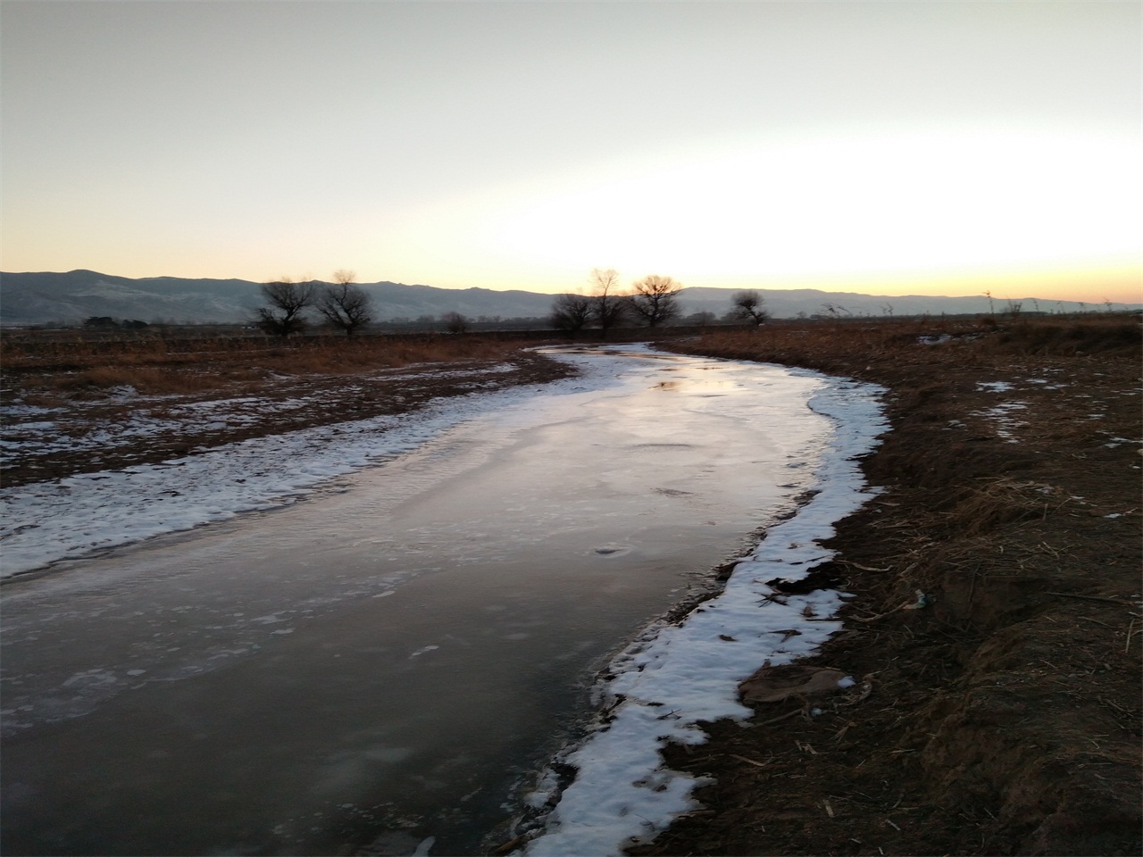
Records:
<instances>
[{"instance_id":1,"label":"frozen grey river reflecting pale sunset light, between snowy edges","mask_svg":"<svg viewBox=\"0 0 1143 857\"><path fill-rule=\"evenodd\" d=\"M88 558L21 543L57 561L2 593L3 852L480 852L594 672L815 488L834 441L821 376L563 359L584 375L442 405L305 502Z\"/></svg>"}]
</instances>

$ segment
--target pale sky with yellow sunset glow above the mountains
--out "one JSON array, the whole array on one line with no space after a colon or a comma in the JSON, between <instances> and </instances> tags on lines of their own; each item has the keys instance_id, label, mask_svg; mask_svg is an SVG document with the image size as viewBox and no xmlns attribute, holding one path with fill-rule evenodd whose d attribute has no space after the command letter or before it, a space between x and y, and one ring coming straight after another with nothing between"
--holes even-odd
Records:
<instances>
[{"instance_id":1,"label":"pale sky with yellow sunset glow above the mountains","mask_svg":"<svg viewBox=\"0 0 1143 857\"><path fill-rule=\"evenodd\" d=\"M5 0L5 271L1143 302L1143 5Z\"/></svg>"}]
</instances>

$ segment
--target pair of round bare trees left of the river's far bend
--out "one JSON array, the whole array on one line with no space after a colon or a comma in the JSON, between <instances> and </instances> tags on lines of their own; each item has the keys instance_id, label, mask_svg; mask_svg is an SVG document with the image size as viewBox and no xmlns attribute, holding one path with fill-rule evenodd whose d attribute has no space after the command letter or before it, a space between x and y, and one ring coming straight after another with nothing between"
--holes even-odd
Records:
<instances>
[{"instance_id":1,"label":"pair of round bare trees left of the river's far bend","mask_svg":"<svg viewBox=\"0 0 1143 857\"><path fill-rule=\"evenodd\" d=\"M257 309L254 321L264 333L286 337L309 327L306 311L313 309L330 327L353 336L354 331L373 321L369 295L353 285L354 279L357 274L343 270L334 272L331 283L315 280L295 282L287 278L263 283L265 304Z\"/></svg>"}]
</instances>

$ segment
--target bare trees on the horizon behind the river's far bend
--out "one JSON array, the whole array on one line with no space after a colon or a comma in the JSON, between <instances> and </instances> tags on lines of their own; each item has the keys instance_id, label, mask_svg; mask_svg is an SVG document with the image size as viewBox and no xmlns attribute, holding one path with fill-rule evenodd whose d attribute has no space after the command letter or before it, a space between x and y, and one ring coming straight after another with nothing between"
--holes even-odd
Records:
<instances>
[{"instance_id":1,"label":"bare trees on the horizon behind the river's far bend","mask_svg":"<svg viewBox=\"0 0 1143 857\"><path fill-rule=\"evenodd\" d=\"M557 330L583 330L594 327L606 336L613 327L636 321L647 327L668 325L679 318L679 293L682 283L670 277L650 274L622 293L620 275L614 269L594 269L589 277L591 294L557 295L550 322ZM757 291L736 291L732 296L733 318L761 325L769 318L765 301Z\"/></svg>"}]
</instances>

